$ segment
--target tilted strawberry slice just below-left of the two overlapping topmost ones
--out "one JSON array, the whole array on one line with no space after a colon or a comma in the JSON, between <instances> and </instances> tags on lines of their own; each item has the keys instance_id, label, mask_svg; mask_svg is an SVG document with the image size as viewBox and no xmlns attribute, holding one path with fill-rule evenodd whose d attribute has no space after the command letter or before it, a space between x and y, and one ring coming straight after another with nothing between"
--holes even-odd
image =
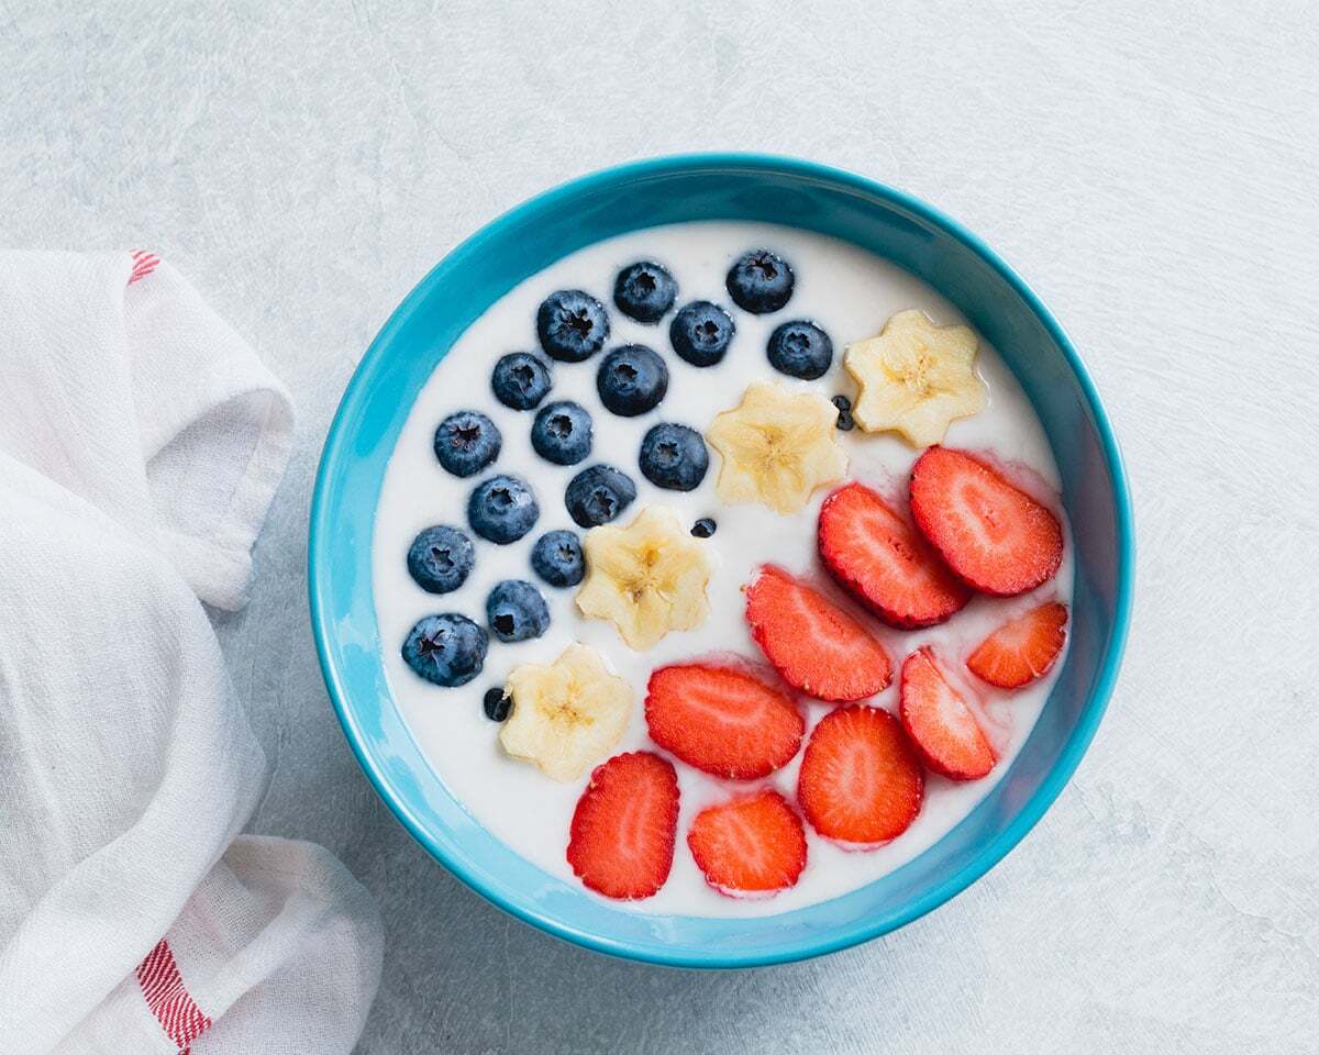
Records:
<instances>
[{"instance_id":1,"label":"tilted strawberry slice just below-left of the two overlapping topmost ones","mask_svg":"<svg viewBox=\"0 0 1319 1055\"><path fill-rule=\"evenodd\" d=\"M783 680L815 699L861 700L893 680L888 653L861 624L773 564L747 587L747 622Z\"/></svg>"}]
</instances>

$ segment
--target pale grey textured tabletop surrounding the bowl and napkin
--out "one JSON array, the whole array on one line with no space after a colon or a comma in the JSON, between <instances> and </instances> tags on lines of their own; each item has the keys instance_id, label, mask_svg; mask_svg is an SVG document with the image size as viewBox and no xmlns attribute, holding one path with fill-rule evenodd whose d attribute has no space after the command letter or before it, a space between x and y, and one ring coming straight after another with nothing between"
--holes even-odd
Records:
<instances>
[{"instance_id":1,"label":"pale grey textured tabletop surrounding the bowl and napkin","mask_svg":"<svg viewBox=\"0 0 1319 1055\"><path fill-rule=\"evenodd\" d=\"M363 1055L1314 1050L1319 13L971 8L0 0L3 240L160 252L298 401L220 629L277 745L255 827L384 905ZM326 425L425 270L551 183L703 148L855 169L997 247L1095 373L1140 535L1121 683L1025 843L888 939L732 975L578 951L434 865L331 717L303 583Z\"/></svg>"}]
</instances>

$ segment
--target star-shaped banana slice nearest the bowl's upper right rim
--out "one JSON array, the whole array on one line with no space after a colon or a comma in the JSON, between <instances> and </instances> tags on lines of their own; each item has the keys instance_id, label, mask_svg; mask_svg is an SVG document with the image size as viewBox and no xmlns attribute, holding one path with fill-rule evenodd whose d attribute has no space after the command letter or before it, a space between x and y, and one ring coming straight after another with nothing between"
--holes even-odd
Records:
<instances>
[{"instance_id":1,"label":"star-shaped banana slice nearest the bowl's upper right rim","mask_svg":"<svg viewBox=\"0 0 1319 1055\"><path fill-rule=\"evenodd\" d=\"M847 346L843 367L861 389L852 417L867 433L901 433L913 447L942 443L950 422L984 410L975 363L969 327L900 311L878 336Z\"/></svg>"}]
</instances>

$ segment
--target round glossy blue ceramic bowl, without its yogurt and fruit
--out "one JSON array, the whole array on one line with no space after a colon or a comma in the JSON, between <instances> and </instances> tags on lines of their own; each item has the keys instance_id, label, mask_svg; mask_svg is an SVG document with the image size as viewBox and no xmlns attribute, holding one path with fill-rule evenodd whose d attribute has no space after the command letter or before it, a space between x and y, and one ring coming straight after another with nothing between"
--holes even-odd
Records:
<instances>
[{"instance_id":1,"label":"round glossy blue ceramic bowl, without its yogurt and fruit","mask_svg":"<svg viewBox=\"0 0 1319 1055\"><path fill-rule=\"evenodd\" d=\"M413 400L467 326L574 249L637 227L707 219L783 223L852 241L955 303L1034 402L1076 545L1067 661L988 798L897 872L760 919L630 913L546 874L488 833L448 794L398 713L371 588L385 463ZM906 194L805 161L747 154L666 157L596 173L533 198L454 249L398 306L348 384L326 439L310 530L311 622L330 698L357 761L413 836L474 890L550 934L682 967L752 967L845 948L901 927L983 876L1080 762L1117 675L1132 603L1132 510L1117 443L1080 357L1035 294L975 235Z\"/></svg>"}]
</instances>

